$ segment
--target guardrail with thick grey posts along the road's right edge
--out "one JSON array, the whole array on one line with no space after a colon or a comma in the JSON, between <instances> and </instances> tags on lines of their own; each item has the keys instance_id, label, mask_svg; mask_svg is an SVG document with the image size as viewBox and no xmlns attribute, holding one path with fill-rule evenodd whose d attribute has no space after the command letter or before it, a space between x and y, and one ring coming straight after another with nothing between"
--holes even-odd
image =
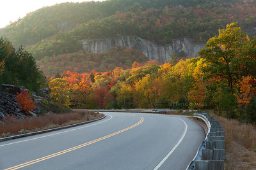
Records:
<instances>
[{"instance_id":1,"label":"guardrail with thick grey posts along the road's right edge","mask_svg":"<svg viewBox=\"0 0 256 170\"><path fill-rule=\"evenodd\" d=\"M208 131L188 170L223 170L225 137L223 127L218 120L207 113L195 113L194 117L207 125Z\"/></svg>"}]
</instances>

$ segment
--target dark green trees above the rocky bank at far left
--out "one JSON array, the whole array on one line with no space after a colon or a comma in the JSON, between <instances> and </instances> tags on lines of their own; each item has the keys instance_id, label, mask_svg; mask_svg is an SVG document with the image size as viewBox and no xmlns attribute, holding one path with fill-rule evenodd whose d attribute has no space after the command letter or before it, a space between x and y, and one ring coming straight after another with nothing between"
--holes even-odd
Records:
<instances>
[{"instance_id":1,"label":"dark green trees above the rocky bank at far left","mask_svg":"<svg viewBox=\"0 0 256 170\"><path fill-rule=\"evenodd\" d=\"M15 52L12 43L3 38L0 38L0 69L0 83L24 85L35 92L44 83L31 53L22 46Z\"/></svg>"}]
</instances>

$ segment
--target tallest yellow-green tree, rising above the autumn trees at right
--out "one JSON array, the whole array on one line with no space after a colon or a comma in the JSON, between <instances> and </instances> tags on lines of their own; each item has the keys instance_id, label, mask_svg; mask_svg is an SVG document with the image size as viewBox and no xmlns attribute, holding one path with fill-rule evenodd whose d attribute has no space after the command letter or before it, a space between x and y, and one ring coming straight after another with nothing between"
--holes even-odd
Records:
<instances>
[{"instance_id":1,"label":"tallest yellow-green tree, rising above the autumn trees at right","mask_svg":"<svg viewBox=\"0 0 256 170\"><path fill-rule=\"evenodd\" d=\"M219 30L219 36L214 36L207 41L199 55L205 59L206 66L203 71L210 77L220 77L227 81L230 89L234 88L234 82L237 81L236 61L241 57L239 50L249 41L248 36L237 27L237 23L227 25L227 29Z\"/></svg>"}]
</instances>

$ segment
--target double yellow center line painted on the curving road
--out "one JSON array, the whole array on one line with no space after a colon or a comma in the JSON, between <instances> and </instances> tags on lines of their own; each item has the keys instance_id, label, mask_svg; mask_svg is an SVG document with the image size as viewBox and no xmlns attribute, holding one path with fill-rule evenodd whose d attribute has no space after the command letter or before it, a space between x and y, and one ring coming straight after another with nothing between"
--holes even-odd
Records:
<instances>
[{"instance_id":1,"label":"double yellow center line painted on the curving road","mask_svg":"<svg viewBox=\"0 0 256 170\"><path fill-rule=\"evenodd\" d=\"M30 166L30 165L32 165L32 164L35 164L35 163L37 163L37 162L41 162L41 161L43 161L43 160L51 159L51 158L53 158L53 157L57 157L58 155L62 155L62 154L64 154L64 153L68 153L68 152L71 152L71 151L73 151L73 150L77 150L77 149L79 149L79 148L83 148L84 146L91 145L91 144L96 143L96 142L98 142L98 141L102 141L102 140L104 140L104 139L110 138L111 136L115 136L116 134L120 134L120 133L122 133L122 132L128 131L129 129L132 129L133 127L136 127L137 125L140 125L143 121L144 121L144 118L141 117L141 118L140 118L140 121L139 121L137 124L131 125L130 127L127 127L127 128L125 128L125 129L122 129L121 131L115 132L115 133L113 133L113 134L109 134L109 135L104 136L104 137L102 137L102 138L95 139L95 140L93 140L93 141L90 141L90 142L87 142L87 143L84 143L84 144L81 144L81 145L74 146L74 147L72 147L72 148L69 148L69 149L67 149L67 150L63 150L63 151L61 151L61 152L53 153L53 154L51 154L51 155L48 155L48 156L46 156L46 157L42 157L42 158L40 158L40 159L31 160L31 161L26 162L26 163L24 163L24 164L20 164L20 165L17 165L17 166L9 167L9 168L7 168L7 169L20 169L20 168L22 168L22 167L26 167L26 166ZM7 169L5 169L5 170L7 170Z\"/></svg>"}]
</instances>

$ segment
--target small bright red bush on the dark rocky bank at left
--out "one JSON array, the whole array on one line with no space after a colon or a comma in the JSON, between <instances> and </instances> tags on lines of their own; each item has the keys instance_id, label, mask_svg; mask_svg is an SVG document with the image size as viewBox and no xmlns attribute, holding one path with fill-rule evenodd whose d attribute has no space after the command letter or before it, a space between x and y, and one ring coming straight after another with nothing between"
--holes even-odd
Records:
<instances>
[{"instance_id":1,"label":"small bright red bush on the dark rocky bank at left","mask_svg":"<svg viewBox=\"0 0 256 170\"><path fill-rule=\"evenodd\" d=\"M22 90L16 96L16 101L20 104L20 108L29 115L29 110L35 110L35 102L31 99L29 90Z\"/></svg>"}]
</instances>

